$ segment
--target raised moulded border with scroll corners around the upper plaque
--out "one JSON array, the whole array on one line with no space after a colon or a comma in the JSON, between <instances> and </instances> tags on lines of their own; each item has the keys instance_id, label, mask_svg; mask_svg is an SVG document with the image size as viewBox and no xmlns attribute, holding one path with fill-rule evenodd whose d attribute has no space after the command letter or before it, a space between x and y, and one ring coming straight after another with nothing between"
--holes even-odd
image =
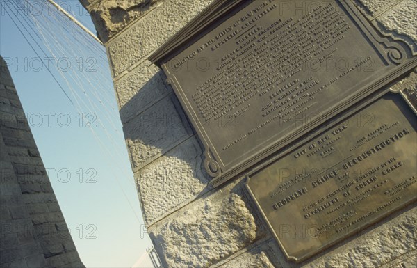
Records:
<instances>
[{"instance_id":1,"label":"raised moulded border with scroll corners around the upper plaque","mask_svg":"<svg viewBox=\"0 0 417 268\"><path fill-rule=\"evenodd\" d=\"M234 5L241 7L242 5L240 5L240 3L240 1L235 1ZM404 74L407 74L417 67L417 56L413 56L414 53L405 42L402 40L394 40L392 36L384 36L382 33L379 33L374 28L374 26L370 24L365 17L363 17L357 7L354 6L352 1L338 0L336 3L338 3L338 6L344 10L345 15L350 18L352 23L357 26L357 29L363 33L363 36L367 38L370 45L373 46L375 52L377 52L377 54L383 58L386 65L391 65L392 68L386 70L384 73L376 77L373 83L368 84L367 86L363 86L362 88L357 88L357 90L354 91L354 94L345 98L343 101L334 104L332 107L329 107L329 109L322 111L321 116L314 118L302 128L292 129L292 131L288 134L281 136L279 139L271 142L267 148L257 150L250 157L245 157L245 159L239 160L234 164L231 164L232 162L230 161L222 161L222 158L216 151L216 148L211 141L211 136L207 134L202 122L197 116L197 111L193 109L193 105L190 103L190 99L186 94L186 90L181 87L181 84L179 83L176 75L173 72L170 72L170 68L166 62L167 58L172 58L172 55L170 55L170 49L172 52L178 54L180 48L175 47L175 45L172 45L173 47L171 48L165 46L163 49L158 49L158 53L152 55L151 59L154 61L154 63L161 63L161 67L167 75L167 81L172 85L172 88L179 98L179 101L181 102L186 115L190 119L190 122L197 132L202 145L204 145L204 167L206 168L207 173L213 177L213 180L210 182L213 187L218 187L220 184L226 182L227 180L234 178L237 175L243 174L243 172L251 166L254 166L259 163L259 161L274 155L275 152L294 142L297 138L300 138L307 132L311 131L311 129L314 129L318 125L324 123L326 120L328 120L328 118L332 118L333 116L336 116L337 113L345 111L353 104L374 93L379 88L386 86L386 84L389 84L391 81L402 77ZM234 5L228 6L227 12L224 14L231 13L231 9L235 7ZM208 13L204 13L204 16L210 17ZM221 16L217 16L216 18L220 19ZM200 20L201 19L197 19L196 22L199 22ZM215 26L213 26L212 29L214 29ZM208 24L204 24L202 29L203 28L205 32L211 30ZM198 33L196 32L194 37L201 38L203 34L202 29L199 29ZM184 30L183 32L186 31ZM188 33L191 32L192 31L188 29ZM188 40L191 39L193 38L188 38ZM174 44L174 42L172 42L172 44ZM185 43L181 42L181 46L184 45Z\"/></svg>"}]
</instances>

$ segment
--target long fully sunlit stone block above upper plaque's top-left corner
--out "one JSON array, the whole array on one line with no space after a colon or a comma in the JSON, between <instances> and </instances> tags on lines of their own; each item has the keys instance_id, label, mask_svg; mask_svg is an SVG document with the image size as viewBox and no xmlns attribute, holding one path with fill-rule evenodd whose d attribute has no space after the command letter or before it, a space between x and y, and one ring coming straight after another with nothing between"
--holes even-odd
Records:
<instances>
[{"instance_id":1,"label":"long fully sunlit stone block above upper plaque's top-left corner","mask_svg":"<svg viewBox=\"0 0 417 268\"><path fill-rule=\"evenodd\" d=\"M186 25L211 0L166 1L106 44L113 77L131 68Z\"/></svg>"}]
</instances>

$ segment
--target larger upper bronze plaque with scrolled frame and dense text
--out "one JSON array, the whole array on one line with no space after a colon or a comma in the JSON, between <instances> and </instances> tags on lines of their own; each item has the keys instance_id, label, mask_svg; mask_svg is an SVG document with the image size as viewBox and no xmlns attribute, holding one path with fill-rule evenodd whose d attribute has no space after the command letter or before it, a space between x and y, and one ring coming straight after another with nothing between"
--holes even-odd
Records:
<instances>
[{"instance_id":1,"label":"larger upper bronze plaque with scrolled frame and dense text","mask_svg":"<svg viewBox=\"0 0 417 268\"><path fill-rule=\"evenodd\" d=\"M417 65L353 1L216 1L150 60L217 186Z\"/></svg>"}]
</instances>

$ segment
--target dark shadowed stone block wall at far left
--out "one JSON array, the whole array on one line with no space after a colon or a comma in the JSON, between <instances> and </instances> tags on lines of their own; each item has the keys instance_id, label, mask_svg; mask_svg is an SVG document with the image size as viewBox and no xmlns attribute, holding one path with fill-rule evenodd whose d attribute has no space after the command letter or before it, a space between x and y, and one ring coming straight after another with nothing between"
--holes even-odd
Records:
<instances>
[{"instance_id":1,"label":"dark shadowed stone block wall at far left","mask_svg":"<svg viewBox=\"0 0 417 268\"><path fill-rule=\"evenodd\" d=\"M84 267L0 57L0 267Z\"/></svg>"}]
</instances>

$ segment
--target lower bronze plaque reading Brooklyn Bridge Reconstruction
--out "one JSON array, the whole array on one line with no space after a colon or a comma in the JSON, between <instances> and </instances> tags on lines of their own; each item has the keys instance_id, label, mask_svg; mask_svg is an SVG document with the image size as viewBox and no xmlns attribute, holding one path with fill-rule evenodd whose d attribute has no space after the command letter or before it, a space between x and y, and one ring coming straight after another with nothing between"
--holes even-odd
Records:
<instances>
[{"instance_id":1,"label":"lower bronze plaque reading Brooklyn Bridge Reconstruction","mask_svg":"<svg viewBox=\"0 0 417 268\"><path fill-rule=\"evenodd\" d=\"M300 261L417 199L417 118L388 93L249 175L281 249Z\"/></svg>"}]
</instances>

